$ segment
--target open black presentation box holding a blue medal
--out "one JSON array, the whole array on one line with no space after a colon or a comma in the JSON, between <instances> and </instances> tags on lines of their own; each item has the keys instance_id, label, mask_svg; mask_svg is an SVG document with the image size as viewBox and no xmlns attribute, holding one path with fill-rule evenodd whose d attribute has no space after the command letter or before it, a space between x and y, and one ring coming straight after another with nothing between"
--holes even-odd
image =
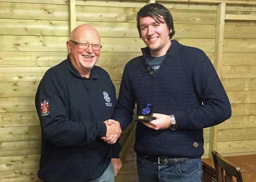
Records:
<instances>
[{"instance_id":1,"label":"open black presentation box holding a blue medal","mask_svg":"<svg viewBox=\"0 0 256 182\"><path fill-rule=\"evenodd\" d=\"M153 104L142 104L135 120L151 122L152 120L155 119L152 117L154 111L155 111L155 106Z\"/></svg>"}]
</instances>

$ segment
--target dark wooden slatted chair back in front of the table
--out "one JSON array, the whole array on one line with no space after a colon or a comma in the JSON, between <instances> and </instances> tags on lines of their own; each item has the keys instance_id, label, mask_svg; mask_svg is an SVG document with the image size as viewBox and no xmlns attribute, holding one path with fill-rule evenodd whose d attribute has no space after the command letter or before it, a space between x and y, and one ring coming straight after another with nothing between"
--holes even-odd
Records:
<instances>
[{"instance_id":1,"label":"dark wooden slatted chair back in front of the table","mask_svg":"<svg viewBox=\"0 0 256 182\"><path fill-rule=\"evenodd\" d=\"M249 182L246 171L224 159L217 151L211 153L218 182L233 182L233 177L236 177L237 182Z\"/></svg>"}]
</instances>

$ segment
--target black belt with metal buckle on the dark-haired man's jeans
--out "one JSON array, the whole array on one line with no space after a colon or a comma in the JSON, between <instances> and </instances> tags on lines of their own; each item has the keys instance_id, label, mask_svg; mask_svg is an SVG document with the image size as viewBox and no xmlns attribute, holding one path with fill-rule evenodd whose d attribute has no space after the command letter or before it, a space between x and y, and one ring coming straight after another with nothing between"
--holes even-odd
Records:
<instances>
[{"instance_id":1,"label":"black belt with metal buckle on the dark-haired man's jeans","mask_svg":"<svg viewBox=\"0 0 256 182\"><path fill-rule=\"evenodd\" d=\"M147 156L144 155L145 159L150 161L150 162L156 162L158 164L161 165L167 165L167 164L180 164L180 163L184 163L187 160L191 159L191 158L186 158L186 157L182 157L182 158L174 158L174 157L151 157L151 156Z\"/></svg>"}]
</instances>

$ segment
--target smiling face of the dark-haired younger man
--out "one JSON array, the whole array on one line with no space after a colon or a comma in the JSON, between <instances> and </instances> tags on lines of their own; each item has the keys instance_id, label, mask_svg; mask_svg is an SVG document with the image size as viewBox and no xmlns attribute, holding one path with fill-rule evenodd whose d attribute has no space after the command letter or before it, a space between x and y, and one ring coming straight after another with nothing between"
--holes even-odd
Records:
<instances>
[{"instance_id":1,"label":"smiling face of the dark-haired younger man","mask_svg":"<svg viewBox=\"0 0 256 182\"><path fill-rule=\"evenodd\" d=\"M165 55L172 44L169 37L172 29L169 31L164 19L161 20L164 23L157 22L150 16L139 19L142 40L150 49L150 54L153 57Z\"/></svg>"}]
</instances>

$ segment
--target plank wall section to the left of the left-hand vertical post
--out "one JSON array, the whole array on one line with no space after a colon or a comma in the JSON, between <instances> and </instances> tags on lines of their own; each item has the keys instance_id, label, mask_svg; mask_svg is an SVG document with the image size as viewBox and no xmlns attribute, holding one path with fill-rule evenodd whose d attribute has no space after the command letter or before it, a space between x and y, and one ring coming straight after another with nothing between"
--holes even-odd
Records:
<instances>
[{"instance_id":1,"label":"plank wall section to the left of the left-hand vertical post","mask_svg":"<svg viewBox=\"0 0 256 182\"><path fill-rule=\"evenodd\" d=\"M34 106L48 68L67 56L66 1L0 1L0 181L34 182L41 128Z\"/></svg>"}]
</instances>

